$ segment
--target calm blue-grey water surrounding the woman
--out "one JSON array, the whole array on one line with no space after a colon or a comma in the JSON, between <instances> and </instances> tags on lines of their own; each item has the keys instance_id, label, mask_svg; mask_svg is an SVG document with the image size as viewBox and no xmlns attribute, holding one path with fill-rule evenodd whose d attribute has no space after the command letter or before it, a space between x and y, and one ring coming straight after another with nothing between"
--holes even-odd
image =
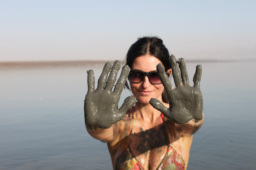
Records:
<instances>
[{"instance_id":1,"label":"calm blue-grey water surrounding the woman","mask_svg":"<svg viewBox=\"0 0 256 170\"><path fill-rule=\"evenodd\" d=\"M187 63L191 84L196 64ZM255 169L256 62L199 64L205 121L187 169ZM97 79L102 67L0 69L1 170L112 169L84 126L86 71Z\"/></svg>"}]
</instances>

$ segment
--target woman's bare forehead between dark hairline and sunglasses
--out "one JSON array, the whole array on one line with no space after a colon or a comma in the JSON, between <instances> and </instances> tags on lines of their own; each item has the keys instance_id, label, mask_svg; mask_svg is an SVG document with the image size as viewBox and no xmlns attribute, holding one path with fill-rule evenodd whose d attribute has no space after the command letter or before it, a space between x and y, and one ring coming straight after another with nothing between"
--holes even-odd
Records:
<instances>
[{"instance_id":1,"label":"woman's bare forehead between dark hairline and sunglasses","mask_svg":"<svg viewBox=\"0 0 256 170\"><path fill-rule=\"evenodd\" d=\"M153 55L141 55L133 61L133 70L141 70L144 72L156 71L156 65L162 63L158 58ZM163 63L162 63L163 64Z\"/></svg>"}]
</instances>

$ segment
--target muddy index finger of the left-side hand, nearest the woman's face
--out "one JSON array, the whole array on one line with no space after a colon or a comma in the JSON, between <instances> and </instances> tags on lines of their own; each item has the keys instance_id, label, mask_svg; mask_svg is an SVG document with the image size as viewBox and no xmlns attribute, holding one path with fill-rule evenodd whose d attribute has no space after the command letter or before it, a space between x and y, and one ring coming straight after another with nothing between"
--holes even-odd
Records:
<instances>
[{"instance_id":1,"label":"muddy index finger of the left-side hand, nearest the woman's face","mask_svg":"<svg viewBox=\"0 0 256 170\"><path fill-rule=\"evenodd\" d=\"M115 89L114 89L114 92L116 92L117 94L120 94L122 92L125 82L126 82L126 78L128 77L130 70L131 69L128 65L123 66L121 75L120 75L119 79L117 80Z\"/></svg>"}]
</instances>

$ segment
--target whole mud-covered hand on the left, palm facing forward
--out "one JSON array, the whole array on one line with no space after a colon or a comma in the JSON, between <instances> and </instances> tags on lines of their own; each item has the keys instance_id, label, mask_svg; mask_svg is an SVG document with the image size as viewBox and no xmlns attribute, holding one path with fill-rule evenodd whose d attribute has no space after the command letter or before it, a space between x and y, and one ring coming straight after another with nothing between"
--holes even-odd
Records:
<instances>
[{"instance_id":1,"label":"whole mud-covered hand on the left, palm facing forward","mask_svg":"<svg viewBox=\"0 0 256 170\"><path fill-rule=\"evenodd\" d=\"M118 60L114 62L112 67L111 64L107 62L98 80L96 90L94 90L95 78L93 70L87 71L88 92L84 100L84 118L85 124L88 127L110 128L120 121L125 116L128 109L137 102L135 96L129 96L124 100L120 109L118 109L120 95L131 70L128 65L122 68L121 75L112 92L120 67L121 62ZM108 76L109 71L110 74Z\"/></svg>"}]
</instances>

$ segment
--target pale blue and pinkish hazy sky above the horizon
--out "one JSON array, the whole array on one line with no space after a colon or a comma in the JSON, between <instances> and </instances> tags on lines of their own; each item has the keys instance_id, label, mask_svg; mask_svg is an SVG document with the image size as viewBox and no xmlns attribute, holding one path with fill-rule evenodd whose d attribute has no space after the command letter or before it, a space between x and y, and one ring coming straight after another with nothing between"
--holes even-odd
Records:
<instances>
[{"instance_id":1,"label":"pale blue and pinkish hazy sky above the horizon","mask_svg":"<svg viewBox=\"0 0 256 170\"><path fill-rule=\"evenodd\" d=\"M0 61L123 60L157 36L176 58L256 60L255 0L0 0Z\"/></svg>"}]
</instances>

